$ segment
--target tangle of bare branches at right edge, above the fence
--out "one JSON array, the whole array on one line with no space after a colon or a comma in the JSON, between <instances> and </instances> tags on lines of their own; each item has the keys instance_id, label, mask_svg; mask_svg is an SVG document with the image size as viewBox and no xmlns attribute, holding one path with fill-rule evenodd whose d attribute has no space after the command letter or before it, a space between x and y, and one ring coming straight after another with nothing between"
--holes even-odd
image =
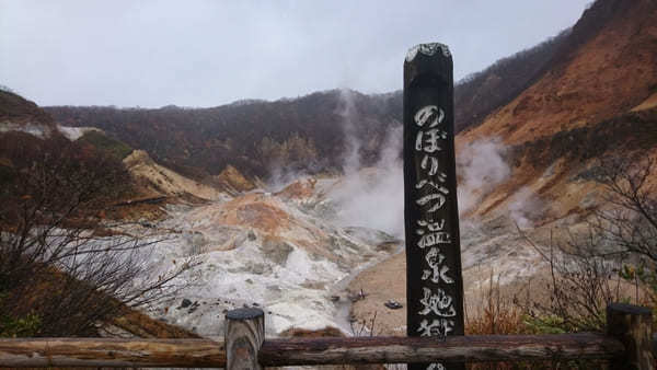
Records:
<instances>
[{"instance_id":1,"label":"tangle of bare branches at right edge, above the fence","mask_svg":"<svg viewBox=\"0 0 657 370\"><path fill-rule=\"evenodd\" d=\"M585 233L540 247L550 268L549 302L525 307L543 327L602 329L612 301L657 303L657 165L649 157L606 158L592 171L604 204ZM634 289L627 289L633 287ZM647 292L650 300L643 299Z\"/></svg>"}]
</instances>

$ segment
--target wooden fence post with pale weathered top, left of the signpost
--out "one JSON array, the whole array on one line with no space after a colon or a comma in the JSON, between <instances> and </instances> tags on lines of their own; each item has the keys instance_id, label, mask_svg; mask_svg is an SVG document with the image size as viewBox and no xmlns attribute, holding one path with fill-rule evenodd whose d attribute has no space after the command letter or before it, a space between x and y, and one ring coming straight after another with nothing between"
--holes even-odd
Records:
<instances>
[{"instance_id":1,"label":"wooden fence post with pale weathered top, left of the signpost","mask_svg":"<svg viewBox=\"0 0 657 370\"><path fill-rule=\"evenodd\" d=\"M226 369L260 370L257 352L265 340L265 313L238 309L226 313Z\"/></svg>"}]
</instances>

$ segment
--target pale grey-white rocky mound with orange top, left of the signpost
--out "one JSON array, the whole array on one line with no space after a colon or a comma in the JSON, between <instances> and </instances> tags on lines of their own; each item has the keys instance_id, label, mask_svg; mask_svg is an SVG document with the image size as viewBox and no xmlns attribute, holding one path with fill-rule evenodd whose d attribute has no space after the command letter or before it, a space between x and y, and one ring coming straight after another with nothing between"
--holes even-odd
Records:
<instances>
[{"instance_id":1,"label":"pale grey-white rocky mound with orange top, left of the signpost","mask_svg":"<svg viewBox=\"0 0 657 370\"><path fill-rule=\"evenodd\" d=\"M157 224L169 234L151 258L163 269L189 255L203 264L184 277L193 286L152 315L220 337L221 312L258 307L267 312L269 336L326 326L349 333L347 284L395 252L400 241L333 223L336 186L337 178L303 178L276 194L169 206L169 218Z\"/></svg>"}]
</instances>

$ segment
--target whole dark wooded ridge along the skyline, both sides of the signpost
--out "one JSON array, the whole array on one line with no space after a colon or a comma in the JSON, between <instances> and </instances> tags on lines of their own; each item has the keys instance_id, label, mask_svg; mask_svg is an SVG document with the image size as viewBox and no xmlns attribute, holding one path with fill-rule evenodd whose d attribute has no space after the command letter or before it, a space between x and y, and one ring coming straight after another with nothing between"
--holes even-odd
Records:
<instances>
[{"instance_id":1,"label":"whole dark wooded ridge along the skyline, both sides of the signpost","mask_svg":"<svg viewBox=\"0 0 657 370\"><path fill-rule=\"evenodd\" d=\"M479 125L529 86L568 35L565 31L458 82L457 131ZM334 90L211 108L53 106L46 111L60 125L99 127L198 180L228 165L251 176L267 176L281 165L310 173L339 172L354 142L359 144L361 164L374 163L390 128L401 125L402 92L365 95Z\"/></svg>"}]
</instances>

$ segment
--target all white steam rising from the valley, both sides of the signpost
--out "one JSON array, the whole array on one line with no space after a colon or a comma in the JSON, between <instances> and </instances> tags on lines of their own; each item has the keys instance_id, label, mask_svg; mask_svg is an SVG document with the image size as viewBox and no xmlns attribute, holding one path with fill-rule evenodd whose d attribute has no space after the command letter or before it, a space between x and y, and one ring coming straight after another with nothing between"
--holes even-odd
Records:
<instances>
[{"instance_id":1,"label":"all white steam rising from the valley, both sides of the signpost","mask_svg":"<svg viewBox=\"0 0 657 370\"><path fill-rule=\"evenodd\" d=\"M336 226L364 227L404 238L403 127L389 129L380 143L379 160L362 166L364 143L356 135L358 115L354 92L341 90L336 113L342 117L345 151L342 159L344 176L328 189L335 209ZM511 169L506 162L507 148L497 137L464 144L457 153L459 213L465 218L496 186L508 181ZM308 173L281 170L277 166L269 178L270 188L278 190L308 176ZM541 204L529 188L511 197L507 216L521 228L531 227ZM466 221L463 219L462 221Z\"/></svg>"}]
</instances>

